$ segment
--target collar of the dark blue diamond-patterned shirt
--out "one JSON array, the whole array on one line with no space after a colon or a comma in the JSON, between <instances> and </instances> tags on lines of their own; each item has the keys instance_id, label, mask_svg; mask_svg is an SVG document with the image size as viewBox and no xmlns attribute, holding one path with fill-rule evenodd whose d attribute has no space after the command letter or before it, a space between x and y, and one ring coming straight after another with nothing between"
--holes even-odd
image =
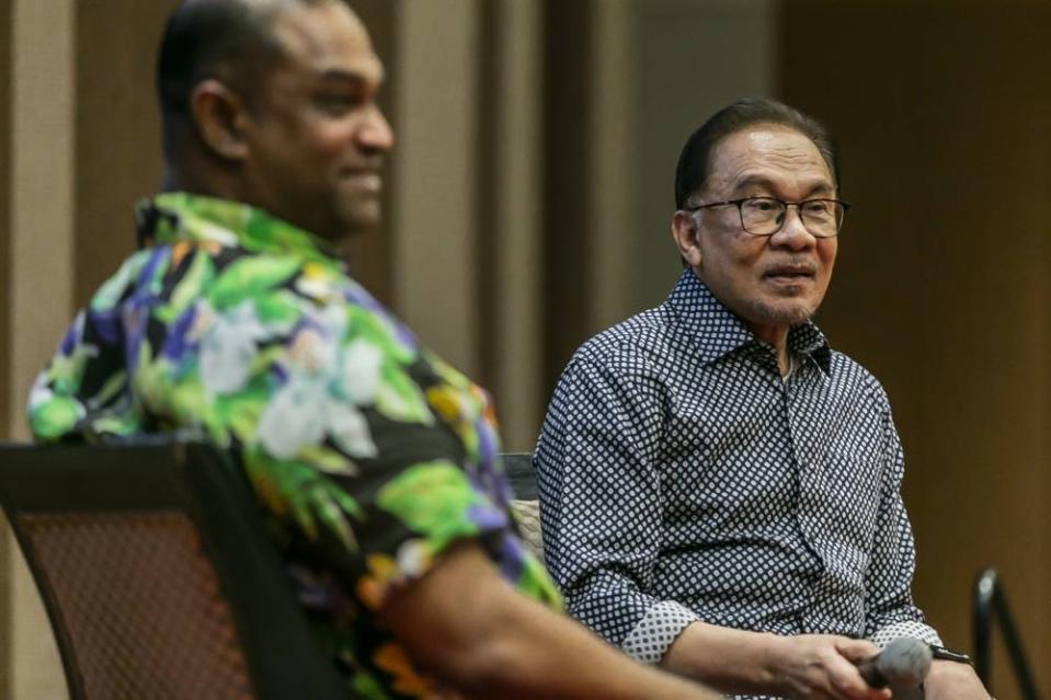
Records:
<instances>
[{"instance_id":1,"label":"collar of the dark blue diamond-patterned shirt","mask_svg":"<svg viewBox=\"0 0 1051 700\"><path fill-rule=\"evenodd\" d=\"M770 346L755 337L735 313L716 299L693 269L684 269L666 306L676 324L694 338L704 364L739 349L769 354ZM788 348L812 358L827 375L832 364L832 348L824 334L812 321L793 325L788 331Z\"/></svg>"}]
</instances>

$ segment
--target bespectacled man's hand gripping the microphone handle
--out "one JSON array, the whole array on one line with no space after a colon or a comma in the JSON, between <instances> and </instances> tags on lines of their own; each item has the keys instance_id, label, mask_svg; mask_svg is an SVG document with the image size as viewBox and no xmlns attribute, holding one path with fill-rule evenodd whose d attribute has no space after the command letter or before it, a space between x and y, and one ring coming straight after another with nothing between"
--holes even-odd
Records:
<instances>
[{"instance_id":1,"label":"bespectacled man's hand gripping the microphone handle","mask_svg":"<svg viewBox=\"0 0 1051 700\"><path fill-rule=\"evenodd\" d=\"M865 682L857 665L879 650L871 642L831 634L780 638L773 657L778 692L789 698L887 700L889 690Z\"/></svg>"}]
</instances>

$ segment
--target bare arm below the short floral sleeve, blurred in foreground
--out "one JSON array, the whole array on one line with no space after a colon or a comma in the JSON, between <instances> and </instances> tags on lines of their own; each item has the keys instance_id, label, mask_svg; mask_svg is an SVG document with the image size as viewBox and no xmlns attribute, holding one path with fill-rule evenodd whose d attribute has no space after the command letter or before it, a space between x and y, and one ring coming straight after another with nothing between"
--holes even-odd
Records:
<instances>
[{"instance_id":1,"label":"bare arm below the short floral sleeve, blurred in foreground","mask_svg":"<svg viewBox=\"0 0 1051 700\"><path fill-rule=\"evenodd\" d=\"M718 698L519 595L476 543L455 547L378 615L422 667L473 697Z\"/></svg>"}]
</instances>

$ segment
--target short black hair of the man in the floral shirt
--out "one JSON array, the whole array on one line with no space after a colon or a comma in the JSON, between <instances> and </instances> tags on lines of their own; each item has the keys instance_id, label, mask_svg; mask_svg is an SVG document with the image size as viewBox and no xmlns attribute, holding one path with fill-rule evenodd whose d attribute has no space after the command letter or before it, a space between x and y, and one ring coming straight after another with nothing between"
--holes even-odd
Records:
<instances>
[{"instance_id":1,"label":"short black hair of the man in the floral shirt","mask_svg":"<svg viewBox=\"0 0 1051 700\"><path fill-rule=\"evenodd\" d=\"M185 0L172 12L157 56L157 96L165 123L189 116L190 96L201 81L244 81L248 72L258 74L281 58L272 32L279 4Z\"/></svg>"}]
</instances>

